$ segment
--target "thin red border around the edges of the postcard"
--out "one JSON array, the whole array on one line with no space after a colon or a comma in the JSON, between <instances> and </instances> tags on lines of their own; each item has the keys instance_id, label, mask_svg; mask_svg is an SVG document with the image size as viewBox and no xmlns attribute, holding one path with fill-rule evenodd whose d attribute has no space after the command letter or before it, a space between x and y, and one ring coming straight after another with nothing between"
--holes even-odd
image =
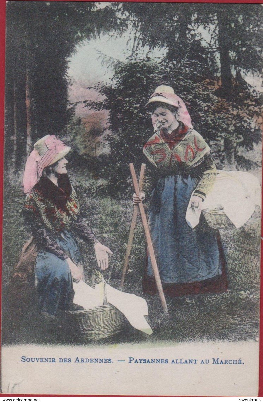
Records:
<instances>
[{"instance_id":1,"label":"thin red border around the edges of the postcard","mask_svg":"<svg viewBox=\"0 0 263 402\"><path fill-rule=\"evenodd\" d=\"M21 0L18 0L21 1ZM30 0L31 1L31 0ZM39 0L45 1L45 0ZM48 1L64 1L64 0L48 0ZM78 1L78 0L71 0ZM83 1L83 0L82 0ZM85 0L87 1L87 0ZM88 0L89 1L89 0ZM107 0L101 0L107 1ZM117 2L124 2L129 0L115 0ZM150 2L149 0L134 0L134 2ZM251 1L236 1L236 0L152 0L151 2L171 2L171 3L179 3L179 2L188 2L188 3L249 3L249 4L261 4L262 0L251 0ZM2 221L3 221L3 158L4 158L4 56L5 56L5 9L6 9L6 1L0 0L0 274L2 277ZM263 227L263 214L261 224ZM263 231L262 235L263 236ZM263 237L262 237L263 238ZM261 274L263 275L263 240L261 240ZM261 303L260 303L260 343L259 343L259 397L263 396L263 281L261 281ZM1 307L1 300L0 300ZM47 395L47 394L0 394L1 397L36 397L36 396L45 396L45 397L64 397L64 396L74 396L78 398L83 398L86 396L92 397L115 397L122 398L120 395ZM125 395L125 397L139 397L144 395ZM152 395L153 396L153 395ZM144 396L145 397L145 396ZM147 397L147 396L146 396ZM160 397L160 396L157 396ZM168 398L168 396L167 396ZM220 398L220 397L218 397Z\"/></svg>"}]
</instances>

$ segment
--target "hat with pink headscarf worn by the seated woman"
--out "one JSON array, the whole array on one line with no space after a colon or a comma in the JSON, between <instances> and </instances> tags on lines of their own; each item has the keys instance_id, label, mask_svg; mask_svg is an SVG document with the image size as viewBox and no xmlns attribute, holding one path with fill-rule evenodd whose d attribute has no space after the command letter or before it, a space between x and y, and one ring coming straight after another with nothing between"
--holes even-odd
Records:
<instances>
[{"instance_id":1,"label":"hat with pink headscarf worn by the seated woman","mask_svg":"<svg viewBox=\"0 0 263 402\"><path fill-rule=\"evenodd\" d=\"M25 193L29 193L38 183L43 170L58 160L64 158L70 151L55 135L45 135L34 144L34 149L27 158L25 165L23 185Z\"/></svg>"}]
</instances>

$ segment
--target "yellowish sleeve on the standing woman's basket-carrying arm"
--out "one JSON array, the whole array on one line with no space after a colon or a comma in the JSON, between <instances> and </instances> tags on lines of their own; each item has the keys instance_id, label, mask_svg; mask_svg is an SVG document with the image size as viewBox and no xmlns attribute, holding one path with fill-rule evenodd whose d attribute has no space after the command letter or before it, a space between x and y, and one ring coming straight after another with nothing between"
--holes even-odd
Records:
<instances>
[{"instance_id":1,"label":"yellowish sleeve on the standing woman's basket-carrying arm","mask_svg":"<svg viewBox=\"0 0 263 402\"><path fill-rule=\"evenodd\" d=\"M212 189L216 180L216 165L210 154L204 156L201 164L193 167L196 172L200 172L201 180L199 181L194 195L205 199L206 194Z\"/></svg>"}]
</instances>

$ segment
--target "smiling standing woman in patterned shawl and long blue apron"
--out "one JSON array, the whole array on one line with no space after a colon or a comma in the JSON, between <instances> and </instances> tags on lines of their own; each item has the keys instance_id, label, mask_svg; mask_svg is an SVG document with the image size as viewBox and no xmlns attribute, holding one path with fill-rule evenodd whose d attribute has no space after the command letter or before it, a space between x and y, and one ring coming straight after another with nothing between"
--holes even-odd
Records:
<instances>
[{"instance_id":1,"label":"smiling standing woman in patterned shawl and long blue apron","mask_svg":"<svg viewBox=\"0 0 263 402\"><path fill-rule=\"evenodd\" d=\"M158 86L146 109L156 129L144 145L150 193L149 226L164 293L175 297L227 290L226 260L220 234L201 217L191 229L185 214L198 208L216 178L210 148L191 125L183 101L170 86ZM147 186L148 184L148 186ZM141 202L134 194L134 204ZM154 293L155 281L147 256L144 291Z\"/></svg>"}]
</instances>

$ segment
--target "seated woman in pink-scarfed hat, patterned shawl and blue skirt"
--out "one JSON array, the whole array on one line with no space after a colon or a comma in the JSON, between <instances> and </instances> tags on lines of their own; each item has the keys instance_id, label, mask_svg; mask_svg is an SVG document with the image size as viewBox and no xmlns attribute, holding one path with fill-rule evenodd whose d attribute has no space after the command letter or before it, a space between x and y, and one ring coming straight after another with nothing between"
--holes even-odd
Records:
<instances>
[{"instance_id":1,"label":"seated woman in pink-scarfed hat, patterned shawl and blue skirt","mask_svg":"<svg viewBox=\"0 0 263 402\"><path fill-rule=\"evenodd\" d=\"M78 282L83 277L82 257L73 233L94 245L101 269L107 269L112 254L80 217L80 204L67 175L65 156L69 151L55 135L46 135L34 144L23 177L27 194L23 215L39 249L35 264L39 310L47 316L69 308L72 280Z\"/></svg>"}]
</instances>

